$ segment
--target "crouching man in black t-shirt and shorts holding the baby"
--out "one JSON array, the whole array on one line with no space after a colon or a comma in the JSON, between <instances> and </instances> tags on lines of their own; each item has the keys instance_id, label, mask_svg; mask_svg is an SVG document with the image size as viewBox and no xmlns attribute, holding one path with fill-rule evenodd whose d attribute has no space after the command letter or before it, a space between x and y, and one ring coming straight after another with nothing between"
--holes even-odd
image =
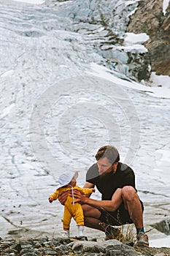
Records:
<instances>
[{"instance_id":1,"label":"crouching man in black t-shirt and shorts holding the baby","mask_svg":"<svg viewBox=\"0 0 170 256\"><path fill-rule=\"evenodd\" d=\"M101 200L93 200L80 192L74 192L77 197L75 202L82 203L85 225L104 231L109 237L114 233L111 225L134 223L137 244L149 246L148 237L144 233L143 204L137 195L134 171L119 162L119 153L113 146L99 148L96 160L96 164L87 172L84 187L96 186L101 192ZM60 201L63 203L62 199Z\"/></svg>"}]
</instances>

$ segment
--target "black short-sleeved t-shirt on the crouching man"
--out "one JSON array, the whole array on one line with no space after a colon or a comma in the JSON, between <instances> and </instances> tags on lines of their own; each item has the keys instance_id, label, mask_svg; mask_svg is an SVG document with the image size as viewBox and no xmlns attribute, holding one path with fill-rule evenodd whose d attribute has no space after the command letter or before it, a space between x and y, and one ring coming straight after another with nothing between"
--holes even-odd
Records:
<instances>
[{"instance_id":1,"label":"black short-sleeved t-shirt on the crouching man","mask_svg":"<svg viewBox=\"0 0 170 256\"><path fill-rule=\"evenodd\" d=\"M96 185L102 200L111 200L117 188L132 186L136 189L134 171L121 162L118 162L115 173L110 172L104 176L99 176L97 164L92 165L86 174L86 181Z\"/></svg>"}]
</instances>

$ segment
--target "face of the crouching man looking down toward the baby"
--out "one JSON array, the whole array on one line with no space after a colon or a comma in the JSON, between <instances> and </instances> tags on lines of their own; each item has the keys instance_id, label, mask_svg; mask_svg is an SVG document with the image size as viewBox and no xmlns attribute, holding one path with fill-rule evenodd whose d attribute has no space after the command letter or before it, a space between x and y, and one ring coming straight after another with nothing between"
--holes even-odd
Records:
<instances>
[{"instance_id":1,"label":"face of the crouching man looking down toward the baby","mask_svg":"<svg viewBox=\"0 0 170 256\"><path fill-rule=\"evenodd\" d=\"M109 160L107 157L103 157L101 159L98 159L97 161L98 165L98 172L100 173L101 176L104 176L107 173L110 173L112 170L114 170L114 165Z\"/></svg>"}]
</instances>

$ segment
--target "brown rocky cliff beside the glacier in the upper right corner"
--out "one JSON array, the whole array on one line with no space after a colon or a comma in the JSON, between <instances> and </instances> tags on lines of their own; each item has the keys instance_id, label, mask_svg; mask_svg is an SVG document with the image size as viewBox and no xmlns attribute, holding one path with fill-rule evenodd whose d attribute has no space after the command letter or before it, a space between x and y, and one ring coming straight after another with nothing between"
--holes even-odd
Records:
<instances>
[{"instance_id":1,"label":"brown rocky cliff beside the glacier in the upper right corner","mask_svg":"<svg viewBox=\"0 0 170 256\"><path fill-rule=\"evenodd\" d=\"M170 75L170 2L163 13L162 0L139 1L127 31L150 36L144 45L148 49L152 71L157 75Z\"/></svg>"}]
</instances>

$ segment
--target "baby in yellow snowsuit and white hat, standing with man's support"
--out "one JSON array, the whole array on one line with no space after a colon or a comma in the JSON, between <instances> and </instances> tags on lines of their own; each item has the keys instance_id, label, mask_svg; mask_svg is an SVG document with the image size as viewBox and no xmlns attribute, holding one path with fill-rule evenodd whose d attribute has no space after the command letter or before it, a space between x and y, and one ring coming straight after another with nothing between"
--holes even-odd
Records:
<instances>
[{"instance_id":1,"label":"baby in yellow snowsuit and white hat, standing with man's support","mask_svg":"<svg viewBox=\"0 0 170 256\"><path fill-rule=\"evenodd\" d=\"M81 187L76 186L77 184L77 176L78 172L72 173L67 172L63 173L58 178L58 183L60 186L58 189L55 190L55 192L50 195L48 198L49 202L52 203L53 200L57 200L58 195L65 191L72 191L72 196L67 197L66 202L64 204L64 212L63 212L63 236L66 238L69 238L69 227L72 217L77 222L77 227L79 231L79 236L84 236L83 230L84 230L84 216L82 211L82 206L80 203L74 204L74 189L79 190L84 195L89 195L92 192L95 192L95 189L82 189Z\"/></svg>"}]
</instances>

